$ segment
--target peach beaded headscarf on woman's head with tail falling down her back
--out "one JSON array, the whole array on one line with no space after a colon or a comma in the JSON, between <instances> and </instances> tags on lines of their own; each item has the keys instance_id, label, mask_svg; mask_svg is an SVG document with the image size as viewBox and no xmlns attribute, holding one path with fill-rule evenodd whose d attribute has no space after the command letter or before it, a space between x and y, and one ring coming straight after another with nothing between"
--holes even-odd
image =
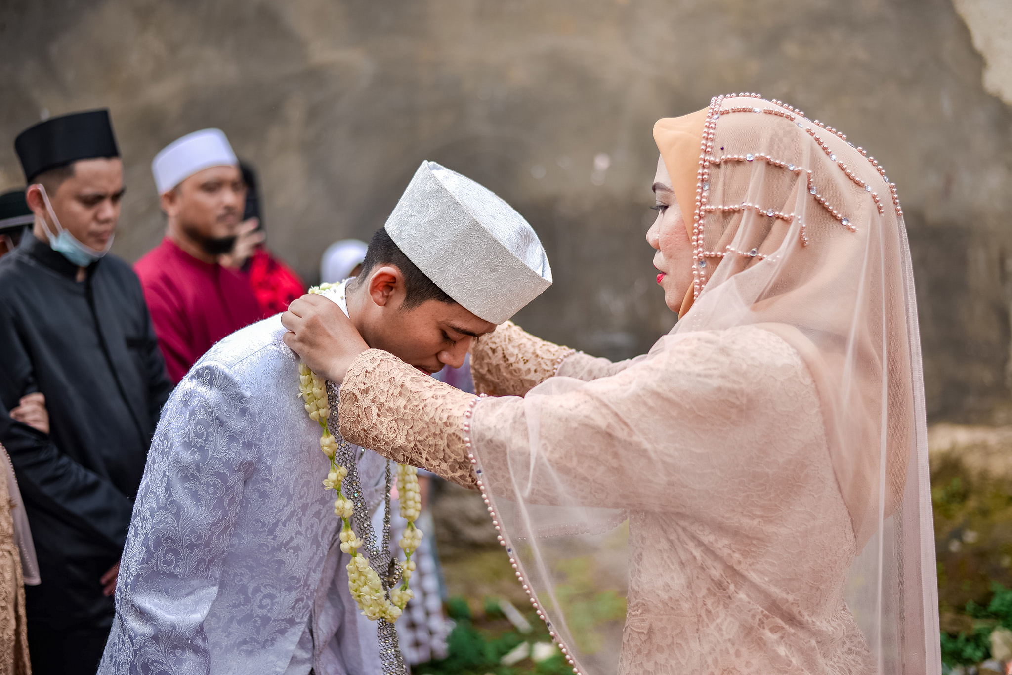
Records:
<instances>
[{"instance_id":1,"label":"peach beaded headscarf on woman's head with tail falling down her back","mask_svg":"<svg viewBox=\"0 0 1012 675\"><path fill-rule=\"evenodd\" d=\"M909 672L937 672L920 335L895 184L842 133L758 95L661 119L654 138L694 252L672 334L756 325L797 350L863 547L848 605L882 672L895 650Z\"/></svg>"}]
</instances>

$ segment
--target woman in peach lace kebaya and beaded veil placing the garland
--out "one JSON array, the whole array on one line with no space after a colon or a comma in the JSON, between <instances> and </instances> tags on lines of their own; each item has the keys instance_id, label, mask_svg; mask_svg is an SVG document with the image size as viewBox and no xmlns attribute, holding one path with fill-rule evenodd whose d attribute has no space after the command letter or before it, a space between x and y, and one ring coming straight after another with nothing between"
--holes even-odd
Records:
<instances>
[{"instance_id":1,"label":"woman in peach lace kebaya and beaded veil placing the garland","mask_svg":"<svg viewBox=\"0 0 1012 675\"><path fill-rule=\"evenodd\" d=\"M650 353L612 363L507 323L474 346L478 399L341 346L353 328L320 299L292 304L286 341L343 379L348 440L483 492L575 672L938 673L895 186L758 95L654 138L648 240L680 319Z\"/></svg>"}]
</instances>

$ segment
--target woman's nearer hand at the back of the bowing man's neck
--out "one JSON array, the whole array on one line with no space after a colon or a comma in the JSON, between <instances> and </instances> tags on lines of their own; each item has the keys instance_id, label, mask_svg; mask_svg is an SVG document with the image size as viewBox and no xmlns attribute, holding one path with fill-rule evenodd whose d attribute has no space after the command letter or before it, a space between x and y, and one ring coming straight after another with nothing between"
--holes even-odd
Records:
<instances>
[{"instance_id":1,"label":"woman's nearer hand at the back of the bowing man's neck","mask_svg":"<svg viewBox=\"0 0 1012 675\"><path fill-rule=\"evenodd\" d=\"M315 372L338 385L355 357L369 348L341 308L323 296L308 293L291 303L281 325L288 329L284 344Z\"/></svg>"}]
</instances>

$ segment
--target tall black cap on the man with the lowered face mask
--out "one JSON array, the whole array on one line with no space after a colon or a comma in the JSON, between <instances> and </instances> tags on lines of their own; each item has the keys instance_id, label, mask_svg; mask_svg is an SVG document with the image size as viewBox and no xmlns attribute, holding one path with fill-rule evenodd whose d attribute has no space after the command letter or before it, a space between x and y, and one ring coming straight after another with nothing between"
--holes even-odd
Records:
<instances>
[{"instance_id":1,"label":"tall black cap on the man with the lowered face mask","mask_svg":"<svg viewBox=\"0 0 1012 675\"><path fill-rule=\"evenodd\" d=\"M95 157L119 157L109 111L88 110L53 117L29 126L14 139L24 178Z\"/></svg>"}]
</instances>

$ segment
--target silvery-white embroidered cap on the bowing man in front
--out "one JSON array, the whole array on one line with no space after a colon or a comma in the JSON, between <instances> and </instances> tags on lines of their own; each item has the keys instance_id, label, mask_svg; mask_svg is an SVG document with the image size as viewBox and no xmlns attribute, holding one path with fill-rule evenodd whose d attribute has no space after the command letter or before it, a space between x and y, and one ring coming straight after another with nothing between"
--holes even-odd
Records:
<instances>
[{"instance_id":1,"label":"silvery-white embroidered cap on the bowing man in front","mask_svg":"<svg viewBox=\"0 0 1012 675\"><path fill-rule=\"evenodd\" d=\"M492 190L422 162L385 226L432 282L475 316L501 324L552 285L534 230Z\"/></svg>"}]
</instances>

